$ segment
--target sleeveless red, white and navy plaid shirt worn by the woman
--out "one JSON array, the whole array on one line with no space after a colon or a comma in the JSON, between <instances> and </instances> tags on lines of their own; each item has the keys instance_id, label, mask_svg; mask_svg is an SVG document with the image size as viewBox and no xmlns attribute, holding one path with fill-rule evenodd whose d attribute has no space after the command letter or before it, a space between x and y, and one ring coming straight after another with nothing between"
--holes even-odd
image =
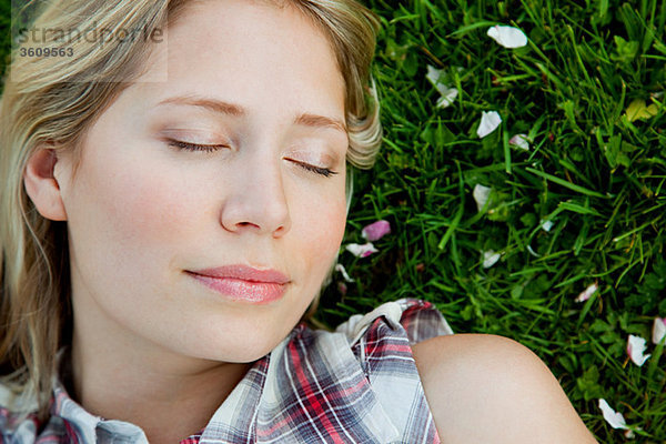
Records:
<instances>
[{"instance_id":1,"label":"sleeveless red, white and navy plaid shirt worn by the woman","mask_svg":"<svg viewBox=\"0 0 666 444\"><path fill-rule=\"evenodd\" d=\"M335 332L297 324L256 361L194 443L440 443L411 345L452 334L430 302L402 299ZM0 444L147 443L130 423L93 416L58 384L47 424L10 414L0 386Z\"/></svg>"}]
</instances>

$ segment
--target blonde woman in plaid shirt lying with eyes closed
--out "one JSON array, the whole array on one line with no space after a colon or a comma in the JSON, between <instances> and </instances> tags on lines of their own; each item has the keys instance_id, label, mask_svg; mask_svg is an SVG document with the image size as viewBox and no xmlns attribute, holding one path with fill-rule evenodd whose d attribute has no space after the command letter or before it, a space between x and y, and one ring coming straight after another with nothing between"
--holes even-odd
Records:
<instances>
[{"instance_id":1,"label":"blonde woman in plaid shirt lying with eyes closed","mask_svg":"<svg viewBox=\"0 0 666 444\"><path fill-rule=\"evenodd\" d=\"M49 3L0 110L0 442L594 442L427 302L300 322L381 141L371 12Z\"/></svg>"}]
</instances>

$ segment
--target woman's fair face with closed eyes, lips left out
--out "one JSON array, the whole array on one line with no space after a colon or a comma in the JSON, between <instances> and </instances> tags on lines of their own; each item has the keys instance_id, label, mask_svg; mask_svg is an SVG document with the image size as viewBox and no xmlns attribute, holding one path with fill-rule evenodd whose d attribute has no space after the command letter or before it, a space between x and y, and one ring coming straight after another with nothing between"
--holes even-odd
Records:
<instances>
[{"instance_id":1,"label":"woman's fair face with closed eyes, lips left out","mask_svg":"<svg viewBox=\"0 0 666 444\"><path fill-rule=\"evenodd\" d=\"M168 81L119 95L88 132L75 176L67 155L56 167L74 330L250 362L295 325L342 242L343 79L327 40L290 7L198 2L167 42L147 74L168 58ZM255 303L192 273L234 264L290 282Z\"/></svg>"}]
</instances>

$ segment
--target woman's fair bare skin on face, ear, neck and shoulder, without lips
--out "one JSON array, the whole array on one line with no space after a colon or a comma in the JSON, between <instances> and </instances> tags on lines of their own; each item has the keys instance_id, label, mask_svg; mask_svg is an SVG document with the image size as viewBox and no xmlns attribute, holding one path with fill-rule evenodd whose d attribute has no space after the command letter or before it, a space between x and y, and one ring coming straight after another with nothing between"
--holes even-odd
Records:
<instances>
[{"instance_id":1,"label":"woman's fair bare skin on face, ear, neck and shoulder, without lips","mask_svg":"<svg viewBox=\"0 0 666 444\"><path fill-rule=\"evenodd\" d=\"M331 124L345 115L335 57L294 9L198 2L168 30L168 49L151 58L147 75L167 62L168 81L134 83L102 112L75 174L71 151L42 148L24 183L44 218L68 223L71 395L93 414L141 426L150 442L172 443L205 426L249 363L282 341L317 294L344 234L349 141ZM215 148L186 151L171 139ZM284 296L232 301L188 273L238 263L286 274ZM543 364L511 346L458 337L414 346L443 437L478 442L465 434L485 428L498 442L505 417L525 421L531 436L551 418L518 408L519 401L543 396L566 411L553 423L566 426L547 428L561 432L548 442L585 442L572 441L584 426ZM493 376L487 360L519 371ZM505 400L502 384L512 377L531 382ZM484 392L493 402L481 407L480 381L500 384Z\"/></svg>"}]
</instances>

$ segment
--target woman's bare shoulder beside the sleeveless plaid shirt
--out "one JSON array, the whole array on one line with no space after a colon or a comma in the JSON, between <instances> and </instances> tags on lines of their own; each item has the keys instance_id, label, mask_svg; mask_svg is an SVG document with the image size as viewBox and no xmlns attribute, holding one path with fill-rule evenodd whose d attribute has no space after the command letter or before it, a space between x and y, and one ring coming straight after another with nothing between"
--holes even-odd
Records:
<instances>
[{"instance_id":1,"label":"woman's bare shoulder beside the sleeveless plaid shirt","mask_svg":"<svg viewBox=\"0 0 666 444\"><path fill-rule=\"evenodd\" d=\"M546 365L515 341L456 334L412 351L443 442L596 442Z\"/></svg>"}]
</instances>

